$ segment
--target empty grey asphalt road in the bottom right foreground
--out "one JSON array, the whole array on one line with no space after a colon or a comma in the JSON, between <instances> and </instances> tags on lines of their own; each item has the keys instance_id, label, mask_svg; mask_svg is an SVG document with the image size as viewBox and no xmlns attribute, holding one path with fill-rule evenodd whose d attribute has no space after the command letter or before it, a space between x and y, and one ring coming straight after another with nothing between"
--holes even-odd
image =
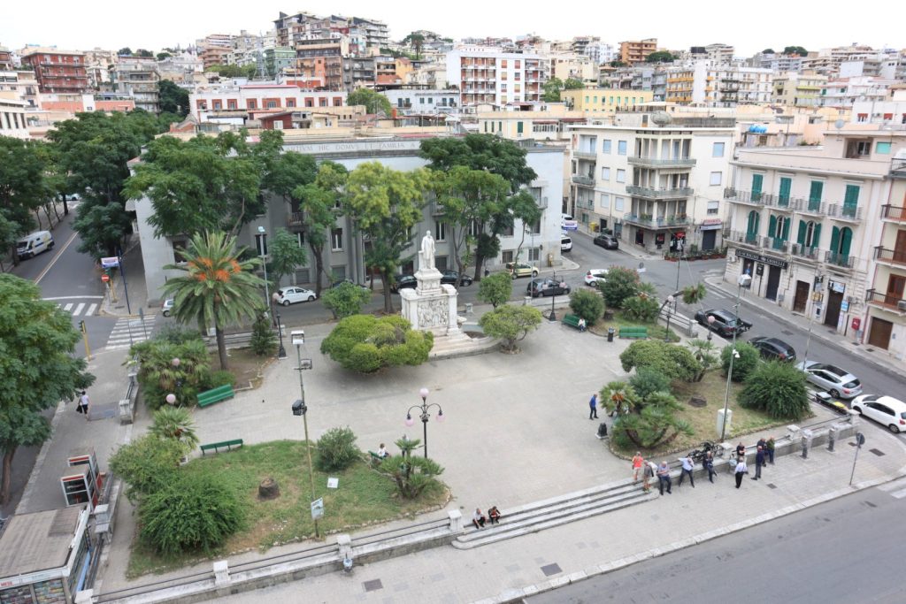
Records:
<instances>
[{"instance_id":1,"label":"empty grey asphalt road in the bottom right foreground","mask_svg":"<svg viewBox=\"0 0 906 604\"><path fill-rule=\"evenodd\" d=\"M822 503L525 602L901 602L906 542L893 527L906 513L904 485Z\"/></svg>"}]
</instances>

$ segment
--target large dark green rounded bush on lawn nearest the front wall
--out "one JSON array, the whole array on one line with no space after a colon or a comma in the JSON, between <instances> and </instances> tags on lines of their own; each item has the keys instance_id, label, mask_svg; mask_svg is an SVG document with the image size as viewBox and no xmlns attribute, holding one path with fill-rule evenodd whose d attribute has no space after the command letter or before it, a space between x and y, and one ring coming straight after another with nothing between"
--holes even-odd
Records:
<instances>
[{"instance_id":1,"label":"large dark green rounded bush on lawn nearest the front wall","mask_svg":"<svg viewBox=\"0 0 906 604\"><path fill-rule=\"evenodd\" d=\"M139 507L140 536L154 551L210 553L242 528L239 499L216 475L180 475Z\"/></svg>"}]
</instances>

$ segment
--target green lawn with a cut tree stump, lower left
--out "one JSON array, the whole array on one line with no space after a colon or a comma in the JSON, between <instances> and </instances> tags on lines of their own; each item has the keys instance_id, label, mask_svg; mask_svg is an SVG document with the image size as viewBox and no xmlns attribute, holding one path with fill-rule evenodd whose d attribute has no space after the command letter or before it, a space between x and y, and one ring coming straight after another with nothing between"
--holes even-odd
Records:
<instances>
[{"instance_id":1,"label":"green lawn with a cut tree stump, lower left","mask_svg":"<svg viewBox=\"0 0 906 604\"><path fill-rule=\"evenodd\" d=\"M315 452L312 459L316 461ZM366 454L367 455L367 454ZM222 557L250 549L266 550L286 542L313 537L314 523L310 511L311 483L304 444L298 441L274 441L244 446L236 451L206 455L193 459L181 468L190 475L217 475L236 490L246 508L246 527L237 532L219 551L206 557L203 553L165 558L133 539L127 576L134 578L148 572L163 572L187 564ZM340 479L339 488L328 489L327 478ZM266 477L280 485L280 496L270 501L258 499L258 484ZM400 501L394 494L390 478L373 471L364 461L343 472L329 474L314 471L314 496L323 497L324 515L318 522L322 536L327 532L351 530L370 523L381 523L400 516L414 516L443 505L448 490L439 485L413 502Z\"/></svg>"}]
</instances>

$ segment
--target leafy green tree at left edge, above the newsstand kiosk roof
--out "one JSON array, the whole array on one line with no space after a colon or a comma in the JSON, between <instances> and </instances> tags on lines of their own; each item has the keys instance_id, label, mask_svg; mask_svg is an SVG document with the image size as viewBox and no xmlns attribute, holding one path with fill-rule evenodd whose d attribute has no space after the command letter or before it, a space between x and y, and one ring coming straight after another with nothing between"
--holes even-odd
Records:
<instances>
[{"instance_id":1,"label":"leafy green tree at left edge, above the newsstand kiosk roof","mask_svg":"<svg viewBox=\"0 0 906 604\"><path fill-rule=\"evenodd\" d=\"M44 302L37 285L0 274L0 503L9 500L16 450L51 435L43 411L94 381L85 360L72 356L78 340L72 316Z\"/></svg>"}]
</instances>

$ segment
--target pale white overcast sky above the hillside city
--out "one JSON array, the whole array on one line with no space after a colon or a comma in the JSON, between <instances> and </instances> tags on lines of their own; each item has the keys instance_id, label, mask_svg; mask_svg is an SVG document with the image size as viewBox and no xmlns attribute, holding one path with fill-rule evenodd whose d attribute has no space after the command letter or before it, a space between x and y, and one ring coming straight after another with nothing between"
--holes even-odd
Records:
<instances>
[{"instance_id":1,"label":"pale white overcast sky above the hillside city","mask_svg":"<svg viewBox=\"0 0 906 604\"><path fill-rule=\"evenodd\" d=\"M101 5L44 0L32 5L12 0L4 3L0 45L14 50L25 44L72 50L129 46L157 52L165 46L186 46L207 34L237 34L241 29L265 32L281 11L325 14L331 10L381 20L390 27L390 37L397 40L413 30L427 29L455 39L538 34L549 40L564 40L574 35L597 35L602 41L619 43L656 37L660 46L673 50L719 42L735 45L737 54L744 56L786 45L805 46L809 51L853 42L875 48L906 47L901 26L906 9L901 2L875 1L870 3L871 10L858 10L857 6L843 0L459 0L436 5L369 0L298 5L290 0L242 4L157 0Z\"/></svg>"}]
</instances>

